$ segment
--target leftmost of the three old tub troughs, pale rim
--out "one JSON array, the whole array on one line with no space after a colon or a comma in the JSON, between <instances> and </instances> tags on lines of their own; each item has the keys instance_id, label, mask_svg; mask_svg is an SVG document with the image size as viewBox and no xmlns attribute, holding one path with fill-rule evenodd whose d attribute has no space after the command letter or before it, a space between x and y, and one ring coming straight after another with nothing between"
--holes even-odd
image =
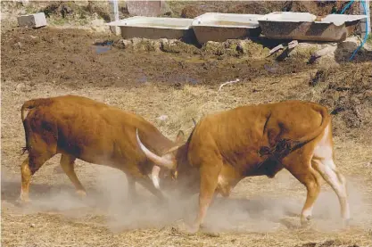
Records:
<instances>
[{"instance_id":1,"label":"leftmost of the three old tub troughs, pale rim","mask_svg":"<svg viewBox=\"0 0 372 247\"><path fill-rule=\"evenodd\" d=\"M192 22L193 19L186 18L134 16L112 21L107 25L120 27L121 37L125 39L133 37L182 39L189 37L193 32Z\"/></svg>"}]
</instances>

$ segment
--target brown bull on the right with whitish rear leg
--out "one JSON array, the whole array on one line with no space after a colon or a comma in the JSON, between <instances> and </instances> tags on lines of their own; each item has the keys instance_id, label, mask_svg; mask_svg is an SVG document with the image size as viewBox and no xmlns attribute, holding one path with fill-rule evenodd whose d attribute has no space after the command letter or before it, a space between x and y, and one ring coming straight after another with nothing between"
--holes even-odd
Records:
<instances>
[{"instance_id":1,"label":"brown bull on the right with whitish rear leg","mask_svg":"<svg viewBox=\"0 0 372 247\"><path fill-rule=\"evenodd\" d=\"M247 105L211 114L196 125L186 144L162 157L146 149L139 137L149 159L177 171L186 188L199 187L194 231L214 193L228 196L244 177L274 177L284 168L307 188L302 225L310 219L321 177L335 190L345 222L350 218L346 181L335 167L330 115L317 103Z\"/></svg>"}]
</instances>

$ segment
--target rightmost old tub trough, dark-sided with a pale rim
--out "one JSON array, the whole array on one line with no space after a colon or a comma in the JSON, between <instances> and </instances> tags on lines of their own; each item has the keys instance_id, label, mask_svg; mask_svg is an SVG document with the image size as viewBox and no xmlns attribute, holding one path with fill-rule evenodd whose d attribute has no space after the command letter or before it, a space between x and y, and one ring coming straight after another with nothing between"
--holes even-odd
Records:
<instances>
[{"instance_id":1,"label":"rightmost old tub trough, dark-sided with a pale rim","mask_svg":"<svg viewBox=\"0 0 372 247\"><path fill-rule=\"evenodd\" d=\"M263 35L273 39L342 42L364 18L365 15L317 17L309 12L271 12L258 21Z\"/></svg>"}]
</instances>

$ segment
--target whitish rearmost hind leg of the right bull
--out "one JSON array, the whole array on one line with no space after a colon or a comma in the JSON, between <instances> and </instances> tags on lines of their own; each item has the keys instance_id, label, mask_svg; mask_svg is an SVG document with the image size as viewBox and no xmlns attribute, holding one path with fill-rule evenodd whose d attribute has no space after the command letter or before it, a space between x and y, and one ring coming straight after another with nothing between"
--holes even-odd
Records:
<instances>
[{"instance_id":1,"label":"whitish rearmost hind leg of the right bull","mask_svg":"<svg viewBox=\"0 0 372 247\"><path fill-rule=\"evenodd\" d=\"M350 220L350 208L346 190L346 179L335 168L335 162L332 158L312 161L314 169L317 169L327 184L335 191L341 207L343 224L348 225Z\"/></svg>"}]
</instances>

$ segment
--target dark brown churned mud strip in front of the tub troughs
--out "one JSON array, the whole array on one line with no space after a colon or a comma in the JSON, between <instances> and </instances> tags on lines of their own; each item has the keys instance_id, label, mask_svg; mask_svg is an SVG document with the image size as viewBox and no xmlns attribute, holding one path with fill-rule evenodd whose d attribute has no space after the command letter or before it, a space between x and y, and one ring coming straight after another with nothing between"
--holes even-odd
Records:
<instances>
[{"instance_id":1,"label":"dark brown churned mud strip in front of the tub troughs","mask_svg":"<svg viewBox=\"0 0 372 247\"><path fill-rule=\"evenodd\" d=\"M263 76L274 78L311 68L305 62L292 61L274 66L271 58L264 58L266 48L259 45L257 49L252 42L228 41L198 49L185 43L180 46L179 41L174 47L171 43L161 45L160 49L169 53L156 53L148 52L152 48L121 49L115 45L119 40L119 37L77 29L13 29L2 37L3 61L7 61L2 64L2 80L34 84L44 81L75 88L87 84L103 87L144 83L211 85L235 78L242 81ZM110 41L110 45L96 45L105 41ZM177 49L182 53L175 52ZM194 52L195 49L202 52Z\"/></svg>"}]
</instances>

